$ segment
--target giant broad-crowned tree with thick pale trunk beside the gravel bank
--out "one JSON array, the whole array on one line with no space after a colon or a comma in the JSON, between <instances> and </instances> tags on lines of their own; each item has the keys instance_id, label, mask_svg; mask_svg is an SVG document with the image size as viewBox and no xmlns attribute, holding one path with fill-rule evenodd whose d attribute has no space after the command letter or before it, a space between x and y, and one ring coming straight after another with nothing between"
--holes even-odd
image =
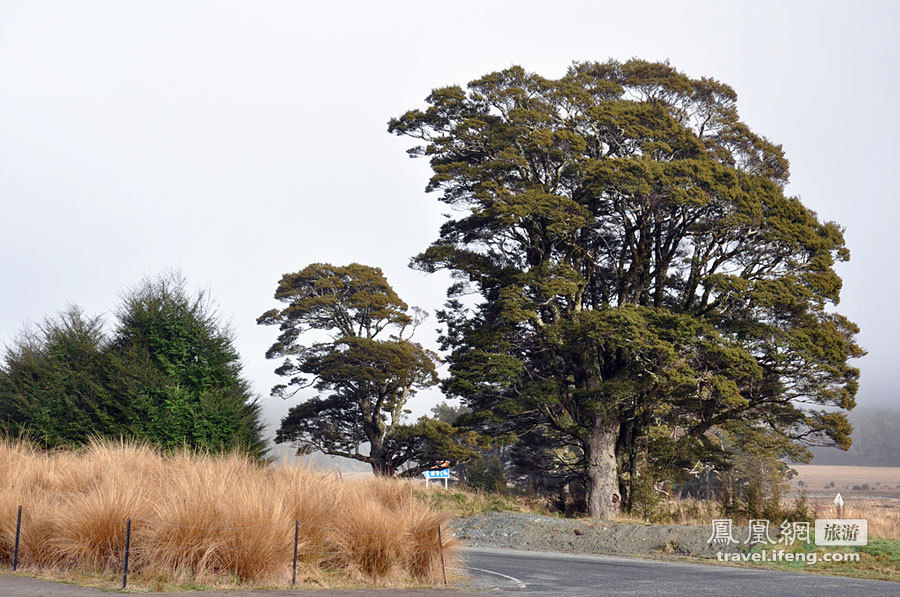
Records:
<instances>
[{"instance_id":1,"label":"giant broad-crowned tree with thick pale trunk beside the gravel bank","mask_svg":"<svg viewBox=\"0 0 900 597\"><path fill-rule=\"evenodd\" d=\"M829 309L849 252L736 101L668 64L585 62L436 89L389 123L453 208L414 259L458 280L448 391L570 438L593 516L628 501L661 419L682 443L733 420L849 442L862 351Z\"/></svg>"}]
</instances>

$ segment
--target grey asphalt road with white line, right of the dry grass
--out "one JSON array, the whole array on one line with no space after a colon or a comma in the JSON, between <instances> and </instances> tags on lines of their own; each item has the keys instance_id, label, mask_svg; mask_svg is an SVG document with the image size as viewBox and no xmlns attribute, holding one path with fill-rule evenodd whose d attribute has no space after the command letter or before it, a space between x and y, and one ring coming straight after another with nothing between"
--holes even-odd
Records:
<instances>
[{"instance_id":1,"label":"grey asphalt road with white line, right of the dry grass","mask_svg":"<svg viewBox=\"0 0 900 597\"><path fill-rule=\"evenodd\" d=\"M819 574L581 556L508 549L469 549L472 588L518 595L809 595L900 596L900 583Z\"/></svg>"}]
</instances>

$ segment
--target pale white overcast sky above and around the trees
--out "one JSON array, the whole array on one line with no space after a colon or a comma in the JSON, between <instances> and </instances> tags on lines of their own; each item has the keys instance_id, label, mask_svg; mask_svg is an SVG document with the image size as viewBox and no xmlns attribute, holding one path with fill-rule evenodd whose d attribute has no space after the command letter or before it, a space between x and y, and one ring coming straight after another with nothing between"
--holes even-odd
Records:
<instances>
[{"instance_id":1,"label":"pale white overcast sky above and around the trees","mask_svg":"<svg viewBox=\"0 0 900 597\"><path fill-rule=\"evenodd\" d=\"M274 423L295 402L268 397L276 330L255 319L283 273L359 261L410 304L443 302L446 278L407 268L441 209L387 120L513 64L636 56L733 86L783 144L789 192L846 227L859 402L896 405L898 23L893 2L2 0L0 344L180 269L233 325Z\"/></svg>"}]
</instances>

